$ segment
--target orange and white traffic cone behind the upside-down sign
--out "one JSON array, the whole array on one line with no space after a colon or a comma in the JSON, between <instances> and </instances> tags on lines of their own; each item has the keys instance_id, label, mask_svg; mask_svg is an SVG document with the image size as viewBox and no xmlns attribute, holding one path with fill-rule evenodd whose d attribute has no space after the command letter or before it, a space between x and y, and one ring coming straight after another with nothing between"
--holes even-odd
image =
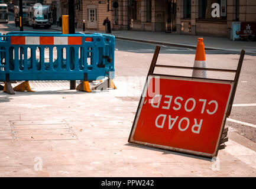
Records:
<instances>
[{"instance_id":1,"label":"orange and white traffic cone behind the upside-down sign","mask_svg":"<svg viewBox=\"0 0 256 189\"><path fill-rule=\"evenodd\" d=\"M203 44L203 38L197 38L198 43L196 46L196 57L194 67L206 68L205 59L205 45ZM207 78L206 70L193 70L192 77Z\"/></svg>"}]
</instances>

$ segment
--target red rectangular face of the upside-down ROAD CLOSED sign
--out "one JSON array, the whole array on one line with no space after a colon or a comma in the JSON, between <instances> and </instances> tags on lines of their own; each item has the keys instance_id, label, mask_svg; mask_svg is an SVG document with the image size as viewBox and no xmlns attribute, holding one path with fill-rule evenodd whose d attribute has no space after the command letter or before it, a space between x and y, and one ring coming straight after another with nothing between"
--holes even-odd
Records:
<instances>
[{"instance_id":1,"label":"red rectangular face of the upside-down ROAD CLOSED sign","mask_svg":"<svg viewBox=\"0 0 256 189\"><path fill-rule=\"evenodd\" d=\"M148 78L129 142L214 157L233 82L157 77Z\"/></svg>"}]
</instances>

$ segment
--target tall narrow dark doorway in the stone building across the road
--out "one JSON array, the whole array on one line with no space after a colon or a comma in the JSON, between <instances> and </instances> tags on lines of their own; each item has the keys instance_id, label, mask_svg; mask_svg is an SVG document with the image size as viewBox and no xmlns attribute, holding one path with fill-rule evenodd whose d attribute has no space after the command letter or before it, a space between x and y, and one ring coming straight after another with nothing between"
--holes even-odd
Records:
<instances>
[{"instance_id":1,"label":"tall narrow dark doorway in the stone building across the road","mask_svg":"<svg viewBox=\"0 0 256 189\"><path fill-rule=\"evenodd\" d=\"M176 0L166 0L166 32L176 31Z\"/></svg>"}]
</instances>

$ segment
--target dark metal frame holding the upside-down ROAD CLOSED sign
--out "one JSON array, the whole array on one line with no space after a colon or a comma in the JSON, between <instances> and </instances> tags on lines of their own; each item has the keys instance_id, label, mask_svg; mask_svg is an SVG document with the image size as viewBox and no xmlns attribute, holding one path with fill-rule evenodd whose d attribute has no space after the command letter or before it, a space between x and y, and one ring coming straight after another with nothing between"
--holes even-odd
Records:
<instances>
[{"instance_id":1,"label":"dark metal frame holding the upside-down ROAD CLOSED sign","mask_svg":"<svg viewBox=\"0 0 256 189\"><path fill-rule=\"evenodd\" d=\"M151 147L155 147L155 148L167 149L167 150L170 150L170 151L177 151L177 152L182 152L182 153L186 153L186 154L197 155L197 156L200 156L200 157L207 157L207 158L216 157L218 155L218 150L223 149L223 142L227 141L227 138L225 138L225 139L223 138L223 136L224 137L226 136L225 132L227 132L227 131L225 131L225 123L226 123L226 118L228 118L228 116L231 114L231 109L232 109L232 105L233 105L233 102L234 102L236 87L237 87L237 84L238 84L239 75L241 73L242 62L244 60L245 51L244 50L241 51L241 55L240 55L238 66L237 66L236 70L210 69L210 68L184 67L184 66L167 66L167 65L156 64L159 52L160 52L160 46L156 46L155 53L154 53L154 56L153 56L153 60L151 61L150 69L148 70L147 80L144 84L144 89L143 89L141 97L140 97L140 102L138 103L137 112L135 114L134 122L132 124L132 129L131 129L131 132L129 134L128 142L131 143L131 144L137 144L137 145L144 145L144 146L151 146ZM154 73L155 67L164 67L164 68L171 68L171 69L223 71L223 72L235 73L235 77L234 77L234 80L224 80L224 79L206 79L206 78L199 78L199 77L173 76L173 75L167 75L167 74L155 74ZM166 78L166 79L193 80L193 81L197 81L197 82L224 83L224 84L228 83L228 84L231 84L231 92L229 92L228 102L227 102L226 107L225 107L225 113L223 115L222 125L221 125L221 129L220 129L220 132L219 132L219 135L218 135L218 141L216 142L215 152L213 154L208 154L208 153L205 153L205 152L198 152L198 151L191 151L191 150L182 149L182 148L174 148L174 147L164 146L164 145L150 144L148 142L135 141L133 139L134 132L135 132L137 122L138 122L138 118L140 117L140 111L141 111L141 108L142 108L142 105L143 105L143 102L144 102L144 98L145 98L145 95L143 95L143 94L147 93L148 78L149 77L155 77L155 76L160 77L160 78Z\"/></svg>"}]
</instances>

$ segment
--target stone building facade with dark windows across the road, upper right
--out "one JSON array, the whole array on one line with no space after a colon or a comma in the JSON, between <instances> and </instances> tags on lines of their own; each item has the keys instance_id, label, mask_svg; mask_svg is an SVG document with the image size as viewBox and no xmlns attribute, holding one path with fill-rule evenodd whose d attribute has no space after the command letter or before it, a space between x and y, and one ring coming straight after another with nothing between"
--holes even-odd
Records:
<instances>
[{"instance_id":1,"label":"stone building facade with dark windows across the road, upper right","mask_svg":"<svg viewBox=\"0 0 256 189\"><path fill-rule=\"evenodd\" d=\"M113 4L117 2L118 7ZM116 30L229 37L234 21L256 21L255 0L114 0Z\"/></svg>"}]
</instances>

